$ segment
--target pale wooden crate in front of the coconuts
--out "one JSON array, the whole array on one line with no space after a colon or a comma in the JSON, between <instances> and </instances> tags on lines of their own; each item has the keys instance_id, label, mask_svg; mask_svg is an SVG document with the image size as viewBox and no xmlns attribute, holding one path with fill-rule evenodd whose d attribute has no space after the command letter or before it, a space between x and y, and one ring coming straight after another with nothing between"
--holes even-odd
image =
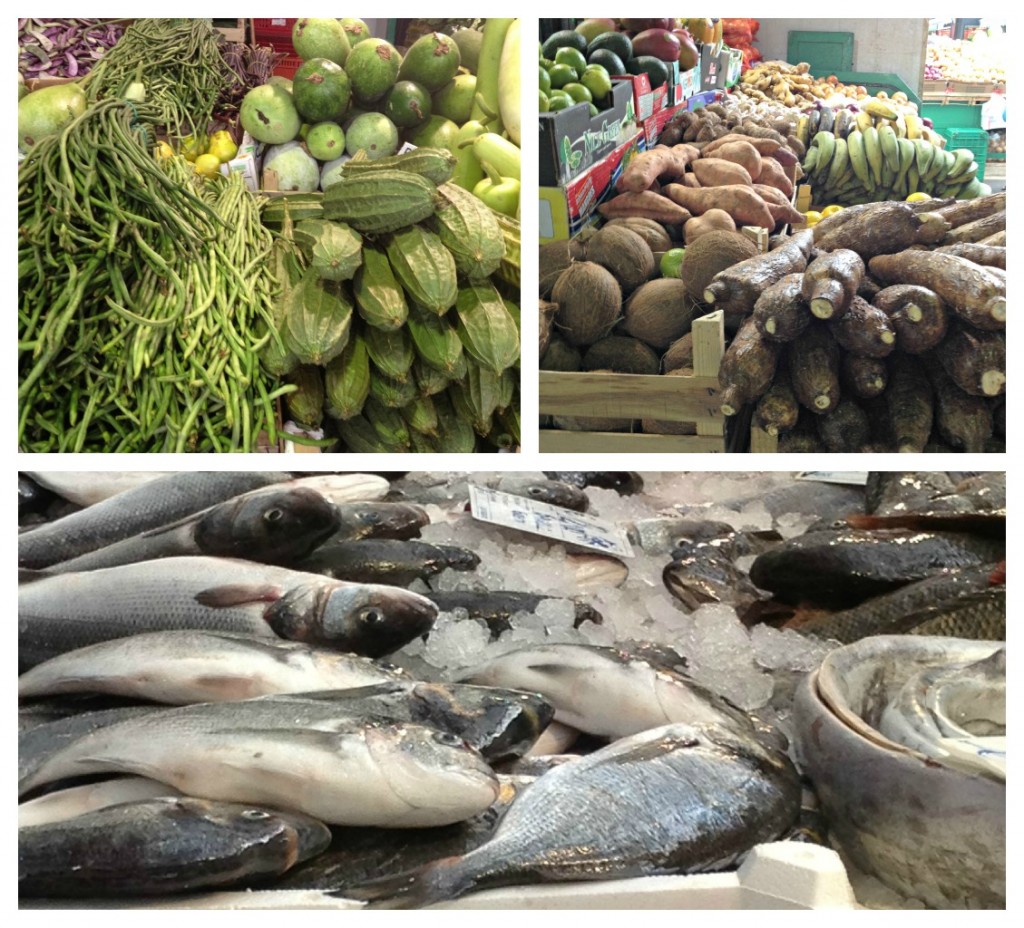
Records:
<instances>
[{"instance_id":1,"label":"pale wooden crate in front of the coconuts","mask_svg":"<svg viewBox=\"0 0 1024 928\"><path fill-rule=\"evenodd\" d=\"M540 372L542 415L692 422L695 435L542 428L542 452L725 451L718 368L725 351L722 310L693 322L693 376Z\"/></svg>"}]
</instances>

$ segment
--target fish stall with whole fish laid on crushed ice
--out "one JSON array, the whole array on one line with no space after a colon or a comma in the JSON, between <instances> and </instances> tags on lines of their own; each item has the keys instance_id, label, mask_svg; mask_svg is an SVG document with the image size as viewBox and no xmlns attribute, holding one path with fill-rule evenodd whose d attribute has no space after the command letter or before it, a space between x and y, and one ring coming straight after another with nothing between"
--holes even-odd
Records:
<instances>
[{"instance_id":1,"label":"fish stall with whole fish laid on crushed ice","mask_svg":"<svg viewBox=\"0 0 1024 928\"><path fill-rule=\"evenodd\" d=\"M18 528L24 908L1006 905L1005 473L27 471Z\"/></svg>"}]
</instances>

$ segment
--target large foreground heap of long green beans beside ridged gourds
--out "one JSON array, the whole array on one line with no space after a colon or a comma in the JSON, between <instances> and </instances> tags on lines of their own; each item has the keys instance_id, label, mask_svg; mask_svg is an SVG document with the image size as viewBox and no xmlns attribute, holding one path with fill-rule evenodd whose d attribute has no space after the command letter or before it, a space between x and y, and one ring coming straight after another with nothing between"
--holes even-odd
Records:
<instances>
[{"instance_id":1,"label":"large foreground heap of long green beans beside ridged gourds","mask_svg":"<svg viewBox=\"0 0 1024 928\"><path fill-rule=\"evenodd\" d=\"M253 451L275 440L278 283L263 201L157 162L160 108L106 99L18 171L18 444L25 451ZM286 388L288 389L288 388Z\"/></svg>"}]
</instances>

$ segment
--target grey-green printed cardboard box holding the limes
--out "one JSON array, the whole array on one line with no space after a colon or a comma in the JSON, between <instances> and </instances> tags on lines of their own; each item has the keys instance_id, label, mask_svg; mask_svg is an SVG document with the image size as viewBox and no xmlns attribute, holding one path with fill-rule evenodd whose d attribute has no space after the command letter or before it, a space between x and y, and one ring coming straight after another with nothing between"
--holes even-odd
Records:
<instances>
[{"instance_id":1,"label":"grey-green printed cardboard box holding the limes","mask_svg":"<svg viewBox=\"0 0 1024 928\"><path fill-rule=\"evenodd\" d=\"M540 115L541 186L564 186L636 133L632 82L613 83L611 96L593 118L584 103Z\"/></svg>"}]
</instances>

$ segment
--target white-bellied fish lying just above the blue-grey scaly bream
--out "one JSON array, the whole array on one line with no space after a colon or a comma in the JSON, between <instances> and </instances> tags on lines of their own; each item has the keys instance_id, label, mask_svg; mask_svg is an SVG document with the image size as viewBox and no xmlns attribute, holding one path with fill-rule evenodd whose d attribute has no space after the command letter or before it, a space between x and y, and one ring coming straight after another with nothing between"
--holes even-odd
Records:
<instances>
[{"instance_id":1,"label":"white-bellied fish lying just above the blue-grey scaly bream","mask_svg":"<svg viewBox=\"0 0 1024 928\"><path fill-rule=\"evenodd\" d=\"M750 717L721 697L613 647L521 647L459 674L459 679L539 692L555 707L557 721L605 737L626 737L672 722L753 730Z\"/></svg>"}]
</instances>

